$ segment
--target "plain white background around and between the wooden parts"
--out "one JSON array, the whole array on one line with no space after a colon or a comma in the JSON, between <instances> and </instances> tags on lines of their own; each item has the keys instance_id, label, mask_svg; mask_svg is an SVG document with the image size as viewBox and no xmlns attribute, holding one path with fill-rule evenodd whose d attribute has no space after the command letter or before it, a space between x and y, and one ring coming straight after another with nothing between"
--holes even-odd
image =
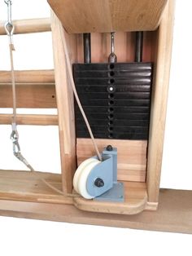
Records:
<instances>
[{"instance_id":1,"label":"plain white background around and between the wooden parts","mask_svg":"<svg viewBox=\"0 0 192 256\"><path fill-rule=\"evenodd\" d=\"M50 15L46 0L13 1L13 19ZM177 0L161 187L192 189L192 2ZM7 9L0 0L0 20ZM53 68L51 34L15 35L15 68ZM9 69L7 37L0 37L0 70ZM0 113L7 110L0 109ZM11 109L8 110L11 113ZM21 109L20 113L24 113ZM34 113L34 110L30 110ZM55 110L41 110L55 113ZM57 127L19 126L20 145L35 169L59 172ZM24 170L11 152L10 126L0 127L1 169ZM43 153L42 153L43 152ZM41 161L39 161L41 156ZM191 255L191 236L0 217L0 255Z\"/></svg>"}]
</instances>

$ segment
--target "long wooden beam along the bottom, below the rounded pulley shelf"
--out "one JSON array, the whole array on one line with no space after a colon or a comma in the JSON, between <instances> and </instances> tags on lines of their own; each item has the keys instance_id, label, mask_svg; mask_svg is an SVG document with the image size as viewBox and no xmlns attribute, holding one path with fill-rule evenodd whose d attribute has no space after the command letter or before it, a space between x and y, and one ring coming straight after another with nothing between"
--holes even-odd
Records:
<instances>
[{"instance_id":1,"label":"long wooden beam along the bottom, below the rounded pulley shelf","mask_svg":"<svg viewBox=\"0 0 192 256\"><path fill-rule=\"evenodd\" d=\"M74 205L51 202L0 200L0 215L192 234L191 198L192 191L161 189L159 209L136 215L90 213L78 210Z\"/></svg>"}]
</instances>

